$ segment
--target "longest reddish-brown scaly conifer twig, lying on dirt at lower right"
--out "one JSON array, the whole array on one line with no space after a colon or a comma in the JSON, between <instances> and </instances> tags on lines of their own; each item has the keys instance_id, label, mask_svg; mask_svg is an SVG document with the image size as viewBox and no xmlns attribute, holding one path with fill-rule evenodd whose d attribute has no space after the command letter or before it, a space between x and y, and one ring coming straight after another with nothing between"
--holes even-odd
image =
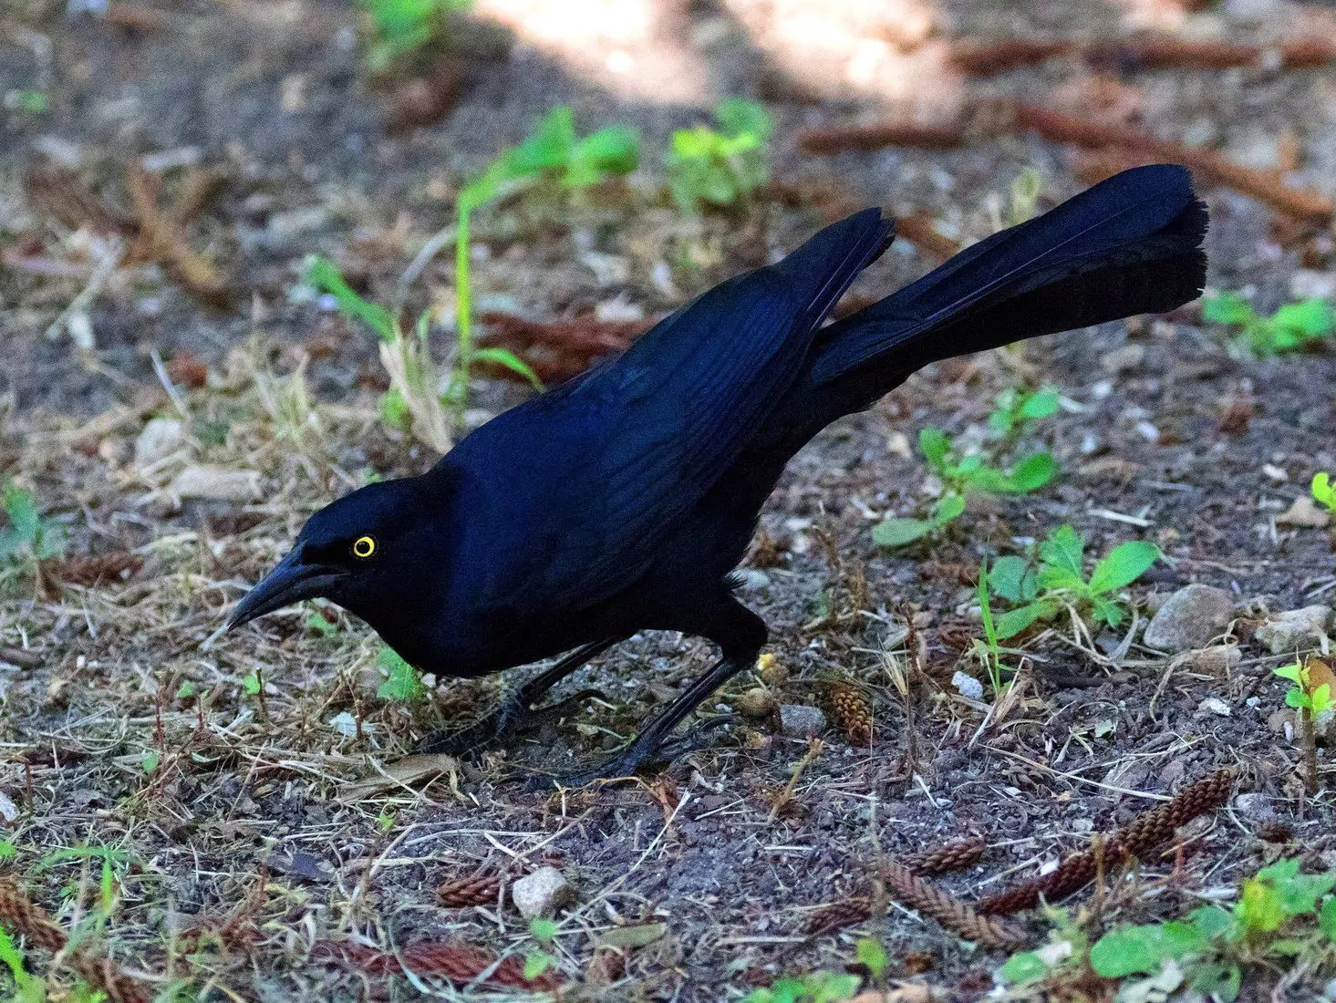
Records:
<instances>
[{"instance_id":1,"label":"longest reddish-brown scaly conifer twig, lying on dirt at lower right","mask_svg":"<svg viewBox=\"0 0 1336 1003\"><path fill-rule=\"evenodd\" d=\"M1121 832L1101 839L1098 845L1082 853L1067 857L1055 871L1011 891L993 895L978 903L977 908L987 915L1006 916L1037 906L1039 899L1058 901L1093 881L1102 863L1121 863L1132 857L1145 860L1172 840L1181 827L1224 804L1233 783L1233 771L1217 769L1189 784L1154 811L1137 816Z\"/></svg>"}]
</instances>

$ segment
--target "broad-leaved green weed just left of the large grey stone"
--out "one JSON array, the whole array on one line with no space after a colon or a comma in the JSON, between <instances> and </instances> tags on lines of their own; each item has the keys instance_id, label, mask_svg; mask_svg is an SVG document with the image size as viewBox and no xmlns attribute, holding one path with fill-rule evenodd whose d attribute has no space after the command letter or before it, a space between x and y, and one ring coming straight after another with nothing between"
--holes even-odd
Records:
<instances>
[{"instance_id":1,"label":"broad-leaved green weed just left of the large grey stone","mask_svg":"<svg viewBox=\"0 0 1336 1003\"><path fill-rule=\"evenodd\" d=\"M1116 628L1124 617L1117 593L1158 558L1158 546L1132 540L1110 550L1086 578L1085 540L1071 526L1058 526L1039 544L1037 565L1014 556L993 562L987 573L991 592L1014 605L998 617L997 636L1003 641L1015 637L1067 608Z\"/></svg>"}]
</instances>

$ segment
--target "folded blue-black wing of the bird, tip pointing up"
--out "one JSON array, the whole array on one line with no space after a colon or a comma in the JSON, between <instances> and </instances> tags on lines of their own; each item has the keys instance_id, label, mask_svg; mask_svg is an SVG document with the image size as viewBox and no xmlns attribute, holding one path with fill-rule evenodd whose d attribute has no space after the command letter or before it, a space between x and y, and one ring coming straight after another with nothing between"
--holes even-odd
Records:
<instances>
[{"instance_id":1,"label":"folded blue-black wing of the bird, tip pointing up","mask_svg":"<svg viewBox=\"0 0 1336 1003\"><path fill-rule=\"evenodd\" d=\"M639 577L766 421L814 330L888 235L878 210L835 223L461 442L445 462L485 482L480 505L510 513L502 532L517 537L500 550L526 552L496 562L496 540L469 548L493 557L488 592L561 609Z\"/></svg>"}]
</instances>

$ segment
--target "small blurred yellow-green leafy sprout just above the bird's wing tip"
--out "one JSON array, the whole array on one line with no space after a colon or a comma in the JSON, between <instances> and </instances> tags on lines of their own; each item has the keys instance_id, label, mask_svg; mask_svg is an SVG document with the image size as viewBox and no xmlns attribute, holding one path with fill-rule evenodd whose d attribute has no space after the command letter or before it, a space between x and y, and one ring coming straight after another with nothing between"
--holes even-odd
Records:
<instances>
[{"instance_id":1,"label":"small blurred yellow-green leafy sprout just above the bird's wing tip","mask_svg":"<svg viewBox=\"0 0 1336 1003\"><path fill-rule=\"evenodd\" d=\"M770 180L768 146L775 124L756 102L729 97L715 110L719 130L679 130L664 155L668 187L688 215L701 206L731 207Z\"/></svg>"}]
</instances>

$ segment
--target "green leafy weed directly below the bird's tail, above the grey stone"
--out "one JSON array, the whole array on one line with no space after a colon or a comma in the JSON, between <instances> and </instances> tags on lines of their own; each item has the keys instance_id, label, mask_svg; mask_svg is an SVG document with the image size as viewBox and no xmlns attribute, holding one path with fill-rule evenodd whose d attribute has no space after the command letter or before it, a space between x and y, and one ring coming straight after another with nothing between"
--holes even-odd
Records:
<instances>
[{"instance_id":1,"label":"green leafy weed directly below the bird's tail, above the grey stone","mask_svg":"<svg viewBox=\"0 0 1336 1003\"><path fill-rule=\"evenodd\" d=\"M1043 411L1043 405L1045 399L1041 399L1031 405L1029 407L1031 413L1026 414L1025 402L1007 402L1003 395L998 398L998 407L990 415L989 423L993 427L1003 427L1005 438L1014 438L1027 423L1047 417L1037 414ZM994 415L997 415L995 423ZM934 504L926 520L894 516L882 520L872 528L872 542L878 546L906 546L939 533L965 513L965 499L971 491L1026 494L1039 490L1058 473L1058 461L1047 450L1031 453L1005 469L998 466L999 461L995 458L999 449L993 449L987 454L962 455L959 443L941 429L922 429L918 445L929 469L942 481L942 497Z\"/></svg>"}]
</instances>

